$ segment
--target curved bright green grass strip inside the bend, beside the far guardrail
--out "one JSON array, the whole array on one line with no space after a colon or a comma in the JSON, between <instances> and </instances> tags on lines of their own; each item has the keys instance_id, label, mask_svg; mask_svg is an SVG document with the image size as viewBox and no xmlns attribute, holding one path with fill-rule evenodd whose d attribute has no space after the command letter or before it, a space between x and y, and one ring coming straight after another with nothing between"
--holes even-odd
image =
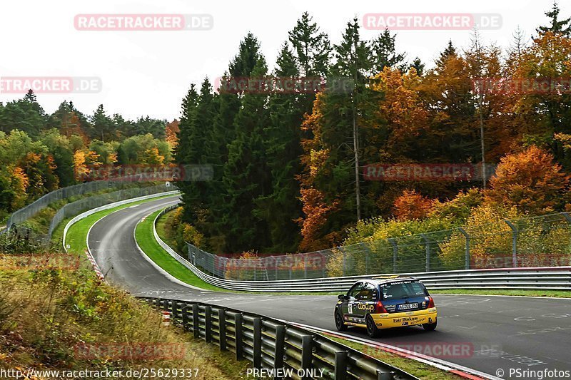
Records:
<instances>
[{"instance_id":1,"label":"curved bright green grass strip inside the bend, beside the far guardrail","mask_svg":"<svg viewBox=\"0 0 571 380\"><path fill-rule=\"evenodd\" d=\"M228 289L215 287L214 285L208 284L208 282L204 282L187 267L174 260L171 255L168 255L168 252L158 245L153 235L153 222L159 212L161 212L161 210L148 215L145 220L139 222L136 227L135 238L141 250L143 250L156 265L166 270L166 272L170 273L176 279L186 282L186 284L200 287L201 289L215 290L217 292L231 292Z\"/></svg>"}]
</instances>

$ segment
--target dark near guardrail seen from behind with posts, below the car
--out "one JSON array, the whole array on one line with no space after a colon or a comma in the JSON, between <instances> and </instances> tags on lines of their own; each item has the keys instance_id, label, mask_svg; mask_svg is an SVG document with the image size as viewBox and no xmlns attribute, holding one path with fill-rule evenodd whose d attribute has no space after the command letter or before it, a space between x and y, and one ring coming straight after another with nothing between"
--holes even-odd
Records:
<instances>
[{"instance_id":1,"label":"dark near guardrail seen from behind with posts, below the car","mask_svg":"<svg viewBox=\"0 0 571 380\"><path fill-rule=\"evenodd\" d=\"M247 359L254 369L279 369L275 379L417 379L344 344L285 322L240 310L175 299L141 299L171 314L196 339ZM277 372L276 372L277 374Z\"/></svg>"}]
</instances>

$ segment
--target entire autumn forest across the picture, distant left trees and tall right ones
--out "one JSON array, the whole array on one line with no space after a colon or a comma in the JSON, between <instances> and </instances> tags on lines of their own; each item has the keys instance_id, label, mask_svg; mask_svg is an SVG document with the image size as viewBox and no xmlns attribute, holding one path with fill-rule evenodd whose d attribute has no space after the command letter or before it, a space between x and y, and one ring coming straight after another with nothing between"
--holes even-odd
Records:
<instances>
[{"instance_id":1,"label":"entire autumn forest across the picture, distant left trees and tall right ones","mask_svg":"<svg viewBox=\"0 0 571 380\"><path fill-rule=\"evenodd\" d=\"M273 65L247 34L170 123L72 101L50 115L30 91L0 103L0 217L101 165L170 163L212 166L213 180L178 183L179 230L224 254L571 210L571 19L554 4L545 20L503 47L475 29L470 46L449 41L422 62L388 30L363 39L358 19L332 43L304 13ZM439 165L480 175L369 175Z\"/></svg>"}]
</instances>

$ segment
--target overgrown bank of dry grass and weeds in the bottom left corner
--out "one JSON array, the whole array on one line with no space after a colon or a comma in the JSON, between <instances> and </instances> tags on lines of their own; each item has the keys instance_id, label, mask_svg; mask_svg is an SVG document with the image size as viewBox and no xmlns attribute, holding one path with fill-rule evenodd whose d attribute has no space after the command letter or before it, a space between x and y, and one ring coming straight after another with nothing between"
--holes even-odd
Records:
<instances>
[{"instance_id":1,"label":"overgrown bank of dry grass and weeds in the bottom left corner","mask_svg":"<svg viewBox=\"0 0 571 380\"><path fill-rule=\"evenodd\" d=\"M241 379L249 366L181 328L163 326L156 309L91 270L6 267L0 262L0 369L183 368L197 369L196 379L222 380Z\"/></svg>"}]
</instances>

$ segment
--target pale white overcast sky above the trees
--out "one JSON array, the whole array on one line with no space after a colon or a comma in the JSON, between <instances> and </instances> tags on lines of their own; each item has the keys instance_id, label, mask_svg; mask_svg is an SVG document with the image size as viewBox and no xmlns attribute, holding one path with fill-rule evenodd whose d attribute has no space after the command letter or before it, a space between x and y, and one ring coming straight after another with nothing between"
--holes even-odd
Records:
<instances>
[{"instance_id":1,"label":"pale white overcast sky above the trees","mask_svg":"<svg viewBox=\"0 0 571 380\"><path fill-rule=\"evenodd\" d=\"M569 1L560 2L562 16L570 16ZM303 11L333 43L353 16L368 13L497 13L502 28L482 31L482 38L506 47L518 25L530 38L538 25L547 24L543 12L551 6L552 0L7 0L0 3L0 76L101 78L98 93L40 94L39 103L49 113L65 99L89 115L103 103L110 115L171 120L180 115L190 83L221 76L248 31L261 41L273 67ZM208 31L78 31L77 14L211 14L214 26ZM363 30L364 38L376 34ZM450 38L456 46L468 46L470 31L398 31L398 50L430 66ZM20 97L0 94L0 101Z\"/></svg>"}]
</instances>

